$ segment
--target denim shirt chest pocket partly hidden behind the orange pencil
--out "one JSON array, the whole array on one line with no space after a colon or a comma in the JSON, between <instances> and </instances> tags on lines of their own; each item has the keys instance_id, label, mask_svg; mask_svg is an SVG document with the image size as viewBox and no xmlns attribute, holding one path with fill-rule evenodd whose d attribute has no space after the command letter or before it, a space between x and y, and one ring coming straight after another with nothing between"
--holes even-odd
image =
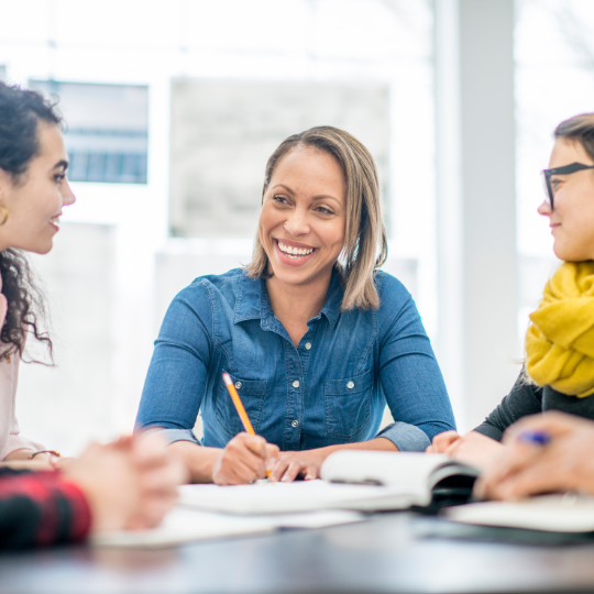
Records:
<instances>
[{"instance_id":1,"label":"denim shirt chest pocket partly hidden behind the orange pencil","mask_svg":"<svg viewBox=\"0 0 594 594\"><path fill-rule=\"evenodd\" d=\"M248 413L248 417L252 422L254 431L257 433L262 405L264 404L264 396L266 395L266 382L260 380L243 380L232 373L229 373L229 375L231 375L233 383L235 384L235 389L243 403L243 408L245 408L245 413ZM241 431L245 431L222 377L219 380L219 387L217 389L215 414L222 428L231 436L237 436Z\"/></svg>"}]
</instances>

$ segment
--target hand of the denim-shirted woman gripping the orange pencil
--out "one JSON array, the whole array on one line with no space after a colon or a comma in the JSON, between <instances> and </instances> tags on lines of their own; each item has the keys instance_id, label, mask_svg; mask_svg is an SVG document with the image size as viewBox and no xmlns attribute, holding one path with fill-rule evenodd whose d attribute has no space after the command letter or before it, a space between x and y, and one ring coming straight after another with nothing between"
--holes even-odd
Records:
<instances>
[{"instance_id":1,"label":"hand of the denim-shirted woman gripping the orange pencil","mask_svg":"<svg viewBox=\"0 0 594 594\"><path fill-rule=\"evenodd\" d=\"M244 485L266 479L278 455L278 447L263 437L238 433L221 451L212 468L212 482L218 485Z\"/></svg>"}]
</instances>

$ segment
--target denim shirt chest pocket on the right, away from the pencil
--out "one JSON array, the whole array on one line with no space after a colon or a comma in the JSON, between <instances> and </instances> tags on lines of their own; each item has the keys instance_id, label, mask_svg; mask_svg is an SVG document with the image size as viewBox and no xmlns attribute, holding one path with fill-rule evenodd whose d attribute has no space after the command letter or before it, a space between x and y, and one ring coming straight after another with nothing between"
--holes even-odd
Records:
<instances>
[{"instance_id":1,"label":"denim shirt chest pocket on the right, away from the pencil","mask_svg":"<svg viewBox=\"0 0 594 594\"><path fill-rule=\"evenodd\" d=\"M326 430L328 435L352 438L371 417L374 372L324 382Z\"/></svg>"}]
</instances>

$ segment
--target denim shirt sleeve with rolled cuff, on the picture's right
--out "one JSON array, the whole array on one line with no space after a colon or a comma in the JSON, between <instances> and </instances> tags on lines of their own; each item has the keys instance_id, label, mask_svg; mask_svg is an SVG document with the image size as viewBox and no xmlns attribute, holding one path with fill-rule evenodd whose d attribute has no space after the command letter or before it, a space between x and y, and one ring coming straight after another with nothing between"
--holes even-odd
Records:
<instances>
[{"instance_id":1,"label":"denim shirt sleeve with rolled cuff, on the picture's right","mask_svg":"<svg viewBox=\"0 0 594 594\"><path fill-rule=\"evenodd\" d=\"M408 292L385 275L381 299L380 381L396 422L377 437L389 439L398 450L424 451L435 436L455 429L450 398Z\"/></svg>"}]
</instances>

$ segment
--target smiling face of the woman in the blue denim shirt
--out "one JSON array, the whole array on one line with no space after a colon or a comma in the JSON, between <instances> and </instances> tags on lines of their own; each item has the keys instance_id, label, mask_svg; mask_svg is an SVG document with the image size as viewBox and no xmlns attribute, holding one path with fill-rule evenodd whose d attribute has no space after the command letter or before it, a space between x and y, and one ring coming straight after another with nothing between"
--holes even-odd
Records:
<instances>
[{"instance_id":1,"label":"smiling face of the woman in the blue denim shirt","mask_svg":"<svg viewBox=\"0 0 594 594\"><path fill-rule=\"evenodd\" d=\"M264 193L260 240L275 282L328 282L344 245L346 184L338 161L300 146L276 165Z\"/></svg>"}]
</instances>

